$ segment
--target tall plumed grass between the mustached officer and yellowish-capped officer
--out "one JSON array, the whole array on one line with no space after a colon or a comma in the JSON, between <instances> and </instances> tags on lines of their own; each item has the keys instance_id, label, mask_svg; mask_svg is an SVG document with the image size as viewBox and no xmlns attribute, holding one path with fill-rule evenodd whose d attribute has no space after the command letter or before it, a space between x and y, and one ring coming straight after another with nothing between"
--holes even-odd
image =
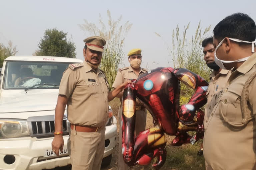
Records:
<instances>
[{"instance_id":1,"label":"tall plumed grass between the mustached officer and yellowish-capped officer","mask_svg":"<svg viewBox=\"0 0 256 170\"><path fill-rule=\"evenodd\" d=\"M112 88L118 68L124 65L122 57L124 55L123 44L132 24L129 21L121 24L122 16L117 21L114 21L109 10L107 10L107 16L107 25L104 24L101 15L99 15L99 27L86 19L84 19L84 24L79 24L79 27L90 36L101 36L106 40L107 44L104 46L100 69L105 71Z\"/></svg>"}]
</instances>

